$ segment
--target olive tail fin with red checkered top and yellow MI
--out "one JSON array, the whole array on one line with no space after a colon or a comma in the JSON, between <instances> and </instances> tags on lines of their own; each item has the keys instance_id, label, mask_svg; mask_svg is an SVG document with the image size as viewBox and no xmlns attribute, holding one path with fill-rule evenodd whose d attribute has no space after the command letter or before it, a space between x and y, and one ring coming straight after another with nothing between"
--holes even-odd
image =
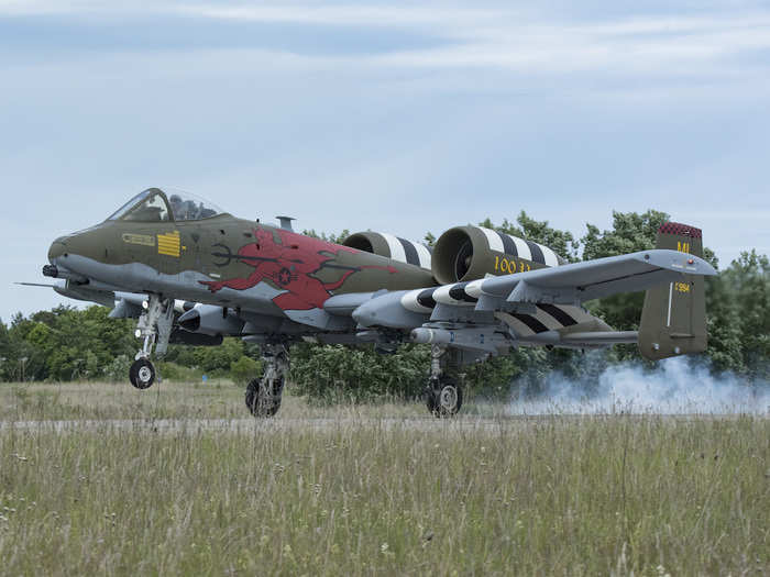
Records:
<instances>
[{"instance_id":1,"label":"olive tail fin with red checkered top and yellow MI","mask_svg":"<svg viewBox=\"0 0 770 577\"><path fill-rule=\"evenodd\" d=\"M656 248L670 248L703 257L700 229L666 222L658 229ZM639 352L657 360L706 349L705 280L682 275L681 280L647 290L639 324Z\"/></svg>"}]
</instances>

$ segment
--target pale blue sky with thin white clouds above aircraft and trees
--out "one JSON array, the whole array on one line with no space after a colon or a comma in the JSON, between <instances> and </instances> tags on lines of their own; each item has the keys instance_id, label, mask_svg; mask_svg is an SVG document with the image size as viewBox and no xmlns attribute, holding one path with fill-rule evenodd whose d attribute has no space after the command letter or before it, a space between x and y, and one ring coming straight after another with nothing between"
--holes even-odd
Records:
<instances>
[{"instance_id":1,"label":"pale blue sky with thin white clouds above aircraft and trees","mask_svg":"<svg viewBox=\"0 0 770 577\"><path fill-rule=\"evenodd\" d=\"M421 238L668 212L770 253L767 2L0 0L0 319L151 186Z\"/></svg>"}]
</instances>

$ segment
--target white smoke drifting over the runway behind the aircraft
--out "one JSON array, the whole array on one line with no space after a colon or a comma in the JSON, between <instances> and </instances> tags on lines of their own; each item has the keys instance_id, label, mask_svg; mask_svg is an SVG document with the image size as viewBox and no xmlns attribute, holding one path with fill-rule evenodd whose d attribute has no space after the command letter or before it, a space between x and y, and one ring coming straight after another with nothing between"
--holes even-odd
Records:
<instances>
[{"instance_id":1,"label":"white smoke drifting over the runway behind the aircraft","mask_svg":"<svg viewBox=\"0 0 770 577\"><path fill-rule=\"evenodd\" d=\"M514 399L512 414L770 414L770 385L734 374L712 376L686 358L668 358L653 370L610 365L593 387L560 374L537 399ZM586 391L593 389L592 393Z\"/></svg>"}]
</instances>

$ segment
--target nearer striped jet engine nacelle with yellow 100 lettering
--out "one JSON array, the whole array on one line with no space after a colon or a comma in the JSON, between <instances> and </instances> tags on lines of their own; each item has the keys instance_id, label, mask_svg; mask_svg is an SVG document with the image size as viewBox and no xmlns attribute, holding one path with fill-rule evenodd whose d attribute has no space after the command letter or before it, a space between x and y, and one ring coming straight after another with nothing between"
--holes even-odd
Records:
<instances>
[{"instance_id":1,"label":"nearer striped jet engine nacelle with yellow 100 lettering","mask_svg":"<svg viewBox=\"0 0 770 577\"><path fill-rule=\"evenodd\" d=\"M559 266L564 260L548 246L481 226L455 226L433 247L432 271L442 285Z\"/></svg>"}]
</instances>

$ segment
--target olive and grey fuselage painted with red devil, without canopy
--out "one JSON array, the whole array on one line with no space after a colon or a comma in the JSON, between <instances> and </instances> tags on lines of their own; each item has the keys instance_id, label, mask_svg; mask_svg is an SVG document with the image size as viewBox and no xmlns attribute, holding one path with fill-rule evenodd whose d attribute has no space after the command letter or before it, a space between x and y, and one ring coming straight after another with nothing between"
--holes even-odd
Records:
<instances>
[{"instance_id":1,"label":"olive and grey fuselage painted with red devil, without canopy","mask_svg":"<svg viewBox=\"0 0 770 577\"><path fill-rule=\"evenodd\" d=\"M333 295L432 286L419 267L227 213L194 221L107 220L54 241L59 277L267 314Z\"/></svg>"}]
</instances>

